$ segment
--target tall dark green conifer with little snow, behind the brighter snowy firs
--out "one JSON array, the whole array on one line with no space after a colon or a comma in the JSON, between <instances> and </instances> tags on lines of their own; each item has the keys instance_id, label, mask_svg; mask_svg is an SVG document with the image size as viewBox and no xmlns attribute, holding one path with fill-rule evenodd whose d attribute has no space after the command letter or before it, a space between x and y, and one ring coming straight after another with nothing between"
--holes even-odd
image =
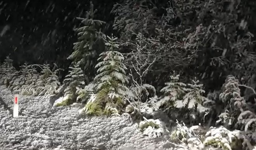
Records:
<instances>
[{"instance_id":1,"label":"tall dark green conifer with little snow, behind the brighter snowy firs","mask_svg":"<svg viewBox=\"0 0 256 150\"><path fill-rule=\"evenodd\" d=\"M92 66L92 59L96 56L96 50L93 47L95 42L106 38L100 31L100 26L105 22L93 19L96 11L93 10L93 4L90 2L90 11L87 11L86 18L77 17L83 26L75 29L78 41L74 43L74 52L67 57L73 60L73 64L78 63L81 67L83 66L83 70L90 69L89 66Z\"/></svg>"}]
</instances>

